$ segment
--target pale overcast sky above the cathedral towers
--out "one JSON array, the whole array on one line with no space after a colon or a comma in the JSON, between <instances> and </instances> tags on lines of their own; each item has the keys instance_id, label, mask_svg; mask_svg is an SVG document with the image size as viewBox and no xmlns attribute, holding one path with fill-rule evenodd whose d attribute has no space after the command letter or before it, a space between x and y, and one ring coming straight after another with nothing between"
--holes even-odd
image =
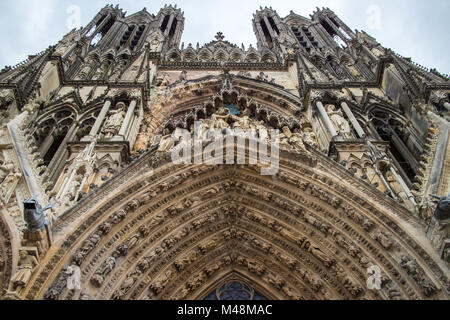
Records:
<instances>
[{"instance_id":1,"label":"pale overcast sky above the cathedral towers","mask_svg":"<svg viewBox=\"0 0 450 320\"><path fill-rule=\"evenodd\" d=\"M77 20L85 26L110 1L1 0L0 66L14 65L28 54L56 44ZM157 14L166 3L122 0L120 7L128 14L144 7ZM172 4L185 12L182 41L186 44L209 42L217 31L222 31L226 40L246 47L256 43L251 20L259 6L272 6L281 17L290 10L309 17L315 7L327 6L351 29L364 30L385 47L450 74L448 0L178 0Z\"/></svg>"}]
</instances>

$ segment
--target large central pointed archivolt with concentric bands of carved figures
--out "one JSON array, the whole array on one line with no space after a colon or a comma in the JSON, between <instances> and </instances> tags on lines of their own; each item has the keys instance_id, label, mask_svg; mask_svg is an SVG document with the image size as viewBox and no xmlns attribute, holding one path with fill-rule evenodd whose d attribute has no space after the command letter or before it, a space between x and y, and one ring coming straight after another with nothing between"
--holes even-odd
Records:
<instances>
[{"instance_id":1,"label":"large central pointed archivolt with concentric bands of carved figures","mask_svg":"<svg viewBox=\"0 0 450 320\"><path fill-rule=\"evenodd\" d=\"M169 160L149 153L66 213L27 298L78 298L73 264L93 299L204 298L230 277L274 299L448 297L416 219L314 150L283 151L274 177ZM367 289L371 265L381 291Z\"/></svg>"}]
</instances>

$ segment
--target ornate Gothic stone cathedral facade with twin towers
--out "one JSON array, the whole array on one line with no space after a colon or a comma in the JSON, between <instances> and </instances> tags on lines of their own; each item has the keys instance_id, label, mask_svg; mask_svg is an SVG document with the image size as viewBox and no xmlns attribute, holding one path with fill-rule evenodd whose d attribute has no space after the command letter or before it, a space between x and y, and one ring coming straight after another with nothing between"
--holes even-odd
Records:
<instances>
[{"instance_id":1,"label":"ornate Gothic stone cathedral facade with twin towers","mask_svg":"<svg viewBox=\"0 0 450 320\"><path fill-rule=\"evenodd\" d=\"M108 5L1 70L0 299L450 298L450 78L328 8L252 24ZM279 130L278 171L174 162L198 122Z\"/></svg>"}]
</instances>

